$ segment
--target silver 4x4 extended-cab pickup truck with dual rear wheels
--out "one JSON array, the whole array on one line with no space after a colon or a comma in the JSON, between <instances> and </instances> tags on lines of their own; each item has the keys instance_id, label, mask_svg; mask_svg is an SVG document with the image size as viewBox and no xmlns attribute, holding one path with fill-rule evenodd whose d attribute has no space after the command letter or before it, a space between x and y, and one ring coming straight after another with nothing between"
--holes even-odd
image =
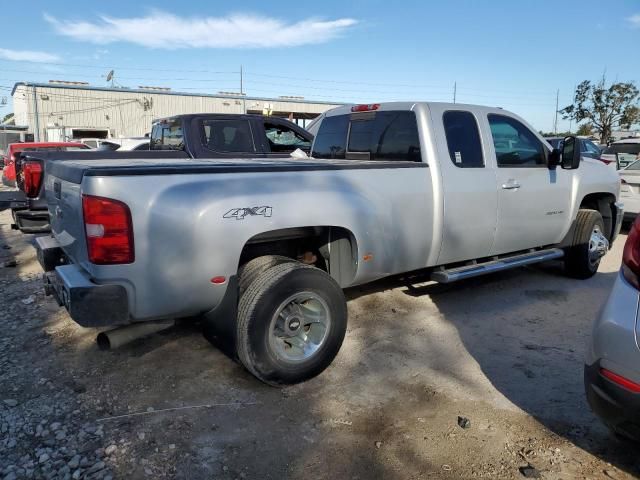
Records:
<instances>
[{"instance_id":1,"label":"silver 4x4 extended-cab pickup truck with dual rear wheels","mask_svg":"<svg viewBox=\"0 0 640 480\"><path fill-rule=\"evenodd\" d=\"M575 146L499 108L387 103L328 112L309 159L49 162L38 257L80 325L203 315L260 380L296 383L338 353L345 287L552 259L594 275L619 180Z\"/></svg>"}]
</instances>

